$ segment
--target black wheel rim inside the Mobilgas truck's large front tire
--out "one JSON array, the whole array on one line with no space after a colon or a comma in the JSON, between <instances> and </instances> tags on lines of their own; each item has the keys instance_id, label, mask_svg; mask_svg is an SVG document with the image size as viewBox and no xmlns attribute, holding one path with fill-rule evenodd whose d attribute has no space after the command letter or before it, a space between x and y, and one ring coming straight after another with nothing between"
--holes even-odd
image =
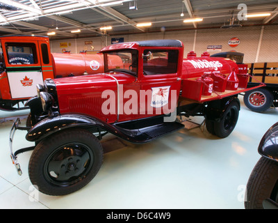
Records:
<instances>
[{"instance_id":1,"label":"black wheel rim inside the Mobilgas truck's large front tire","mask_svg":"<svg viewBox=\"0 0 278 223\"><path fill-rule=\"evenodd\" d=\"M84 178L93 164L93 153L85 144L59 146L44 163L45 179L57 186L69 186Z\"/></svg>"}]
</instances>

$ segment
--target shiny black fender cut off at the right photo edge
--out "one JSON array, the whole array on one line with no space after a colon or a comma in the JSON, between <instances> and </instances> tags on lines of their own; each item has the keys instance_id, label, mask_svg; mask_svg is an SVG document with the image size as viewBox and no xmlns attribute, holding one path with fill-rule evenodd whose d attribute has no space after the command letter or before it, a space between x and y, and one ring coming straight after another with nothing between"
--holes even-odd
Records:
<instances>
[{"instance_id":1,"label":"shiny black fender cut off at the right photo edge","mask_svg":"<svg viewBox=\"0 0 278 223\"><path fill-rule=\"evenodd\" d=\"M278 123L265 132L259 144L258 151L264 157L278 161Z\"/></svg>"}]
</instances>

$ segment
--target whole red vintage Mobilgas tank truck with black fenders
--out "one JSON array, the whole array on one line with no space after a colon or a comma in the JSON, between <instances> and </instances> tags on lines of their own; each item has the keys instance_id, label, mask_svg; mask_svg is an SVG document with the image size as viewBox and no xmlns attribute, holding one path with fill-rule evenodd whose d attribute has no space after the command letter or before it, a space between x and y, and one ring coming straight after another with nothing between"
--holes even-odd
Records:
<instances>
[{"instance_id":1,"label":"whole red vintage Mobilgas tank truck with black fenders","mask_svg":"<svg viewBox=\"0 0 278 223\"><path fill-rule=\"evenodd\" d=\"M45 194L69 194L99 171L104 134L142 144L184 128L176 116L204 116L208 132L229 136L238 121L237 95L250 90L248 76L230 59L194 52L183 59L183 50L179 40L111 45L101 49L104 72L38 84L38 95L26 102L26 126L17 118L10 131L17 172L19 153L33 150L31 182ZM17 129L27 130L35 146L14 152Z\"/></svg>"}]
</instances>

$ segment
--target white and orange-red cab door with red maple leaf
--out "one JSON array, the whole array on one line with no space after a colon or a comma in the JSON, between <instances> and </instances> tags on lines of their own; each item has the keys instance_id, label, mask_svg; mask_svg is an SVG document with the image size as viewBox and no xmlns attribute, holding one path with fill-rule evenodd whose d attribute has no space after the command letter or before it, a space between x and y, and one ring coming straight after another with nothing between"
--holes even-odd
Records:
<instances>
[{"instance_id":1,"label":"white and orange-red cab door with red maple leaf","mask_svg":"<svg viewBox=\"0 0 278 223\"><path fill-rule=\"evenodd\" d=\"M43 83L38 41L5 40L3 45L12 99L33 97L37 92L36 84Z\"/></svg>"}]
</instances>

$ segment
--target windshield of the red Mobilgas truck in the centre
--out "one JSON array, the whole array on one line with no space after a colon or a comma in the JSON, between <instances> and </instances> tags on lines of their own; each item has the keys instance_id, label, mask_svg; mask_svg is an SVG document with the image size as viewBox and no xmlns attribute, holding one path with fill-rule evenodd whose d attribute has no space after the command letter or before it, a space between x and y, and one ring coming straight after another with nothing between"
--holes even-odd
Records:
<instances>
[{"instance_id":1,"label":"windshield of the red Mobilgas truck in the centre","mask_svg":"<svg viewBox=\"0 0 278 223\"><path fill-rule=\"evenodd\" d=\"M138 51L124 49L116 52L106 52L105 72L120 71L136 75L138 72Z\"/></svg>"}]
</instances>

